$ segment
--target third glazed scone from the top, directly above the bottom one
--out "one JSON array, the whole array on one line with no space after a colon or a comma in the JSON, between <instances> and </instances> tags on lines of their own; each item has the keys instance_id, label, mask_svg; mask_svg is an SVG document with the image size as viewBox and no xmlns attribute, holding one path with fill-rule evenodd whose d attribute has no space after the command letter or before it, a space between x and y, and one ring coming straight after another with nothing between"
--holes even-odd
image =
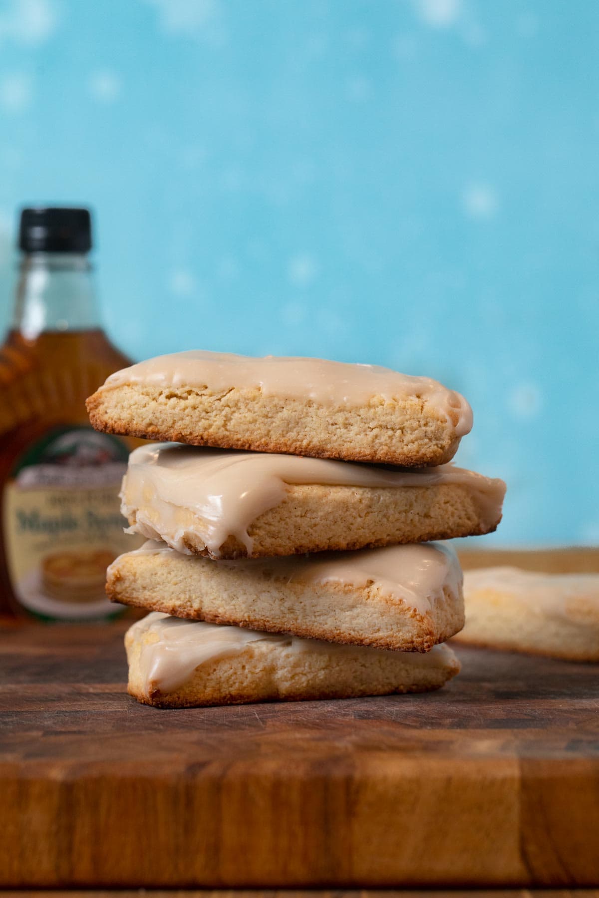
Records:
<instances>
[{"instance_id":1,"label":"third glazed scone from the top, directly above the bottom one","mask_svg":"<svg viewBox=\"0 0 599 898\"><path fill-rule=\"evenodd\" d=\"M400 651L463 625L462 571L442 543L213 561L148 542L110 565L106 591L174 617Z\"/></svg>"}]
</instances>

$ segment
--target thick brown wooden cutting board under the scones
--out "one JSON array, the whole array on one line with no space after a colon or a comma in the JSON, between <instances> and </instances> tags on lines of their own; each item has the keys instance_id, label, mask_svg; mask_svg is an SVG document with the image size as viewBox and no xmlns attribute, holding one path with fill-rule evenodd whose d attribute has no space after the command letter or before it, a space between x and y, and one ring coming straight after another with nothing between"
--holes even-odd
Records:
<instances>
[{"instance_id":1,"label":"thick brown wooden cutting board under the scones","mask_svg":"<svg viewBox=\"0 0 599 898\"><path fill-rule=\"evenodd\" d=\"M124 629L0 631L0 886L599 884L599 665L458 648L426 695L167 711Z\"/></svg>"}]
</instances>

